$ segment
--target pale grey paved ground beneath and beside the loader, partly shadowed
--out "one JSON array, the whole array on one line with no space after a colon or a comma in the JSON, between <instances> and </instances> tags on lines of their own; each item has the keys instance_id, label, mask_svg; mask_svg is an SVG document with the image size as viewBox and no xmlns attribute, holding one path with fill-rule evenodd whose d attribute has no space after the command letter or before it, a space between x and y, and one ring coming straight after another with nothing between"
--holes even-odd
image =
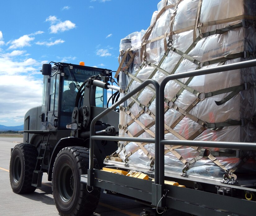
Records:
<instances>
[{"instance_id":1,"label":"pale grey paved ground beneath and beside the loader, partly shadowed","mask_svg":"<svg viewBox=\"0 0 256 216\"><path fill-rule=\"evenodd\" d=\"M42 187L31 194L12 192L9 178L11 148L22 138L0 137L0 216L58 216L52 196L52 183L43 175ZM133 200L101 193L99 205L93 215L138 216L145 208Z\"/></svg>"}]
</instances>

